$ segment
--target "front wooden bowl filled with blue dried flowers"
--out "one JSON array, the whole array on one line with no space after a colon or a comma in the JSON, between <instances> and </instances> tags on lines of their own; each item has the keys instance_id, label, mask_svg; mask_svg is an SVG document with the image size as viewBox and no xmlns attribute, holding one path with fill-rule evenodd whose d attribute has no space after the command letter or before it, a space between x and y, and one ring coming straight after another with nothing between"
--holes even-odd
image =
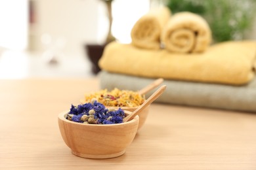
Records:
<instances>
[{"instance_id":1,"label":"front wooden bowl filled with blue dried flowers","mask_svg":"<svg viewBox=\"0 0 256 170\"><path fill-rule=\"evenodd\" d=\"M58 115L62 139L76 156L93 159L115 158L125 153L139 126L139 116L121 124L81 124ZM129 114L125 112L125 114Z\"/></svg>"}]
</instances>

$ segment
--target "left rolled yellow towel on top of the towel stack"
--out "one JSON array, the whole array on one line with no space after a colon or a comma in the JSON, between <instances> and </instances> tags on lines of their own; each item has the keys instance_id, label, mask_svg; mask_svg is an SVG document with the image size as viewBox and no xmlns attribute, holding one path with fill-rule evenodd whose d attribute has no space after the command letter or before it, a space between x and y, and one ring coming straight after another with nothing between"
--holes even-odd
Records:
<instances>
[{"instance_id":1,"label":"left rolled yellow towel on top of the towel stack","mask_svg":"<svg viewBox=\"0 0 256 170\"><path fill-rule=\"evenodd\" d=\"M160 49L160 35L163 26L171 16L167 7L152 9L144 14L131 29L132 44L146 49Z\"/></svg>"}]
</instances>

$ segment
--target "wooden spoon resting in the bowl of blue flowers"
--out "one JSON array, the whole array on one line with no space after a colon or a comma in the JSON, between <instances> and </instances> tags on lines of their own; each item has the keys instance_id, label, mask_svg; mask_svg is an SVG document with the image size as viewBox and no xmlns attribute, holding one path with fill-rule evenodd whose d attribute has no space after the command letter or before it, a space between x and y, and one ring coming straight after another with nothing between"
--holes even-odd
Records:
<instances>
[{"instance_id":1,"label":"wooden spoon resting in the bowl of blue flowers","mask_svg":"<svg viewBox=\"0 0 256 170\"><path fill-rule=\"evenodd\" d=\"M156 90L156 92L154 92L152 95L150 95L150 97L148 97L148 99L146 99L146 101L144 101L144 103L142 103L142 105L140 105L131 114L129 114L128 116L123 118L123 122L132 120L135 116L140 114L140 112L142 112L143 109L145 109L146 107L148 107L148 105L150 105L153 101L155 101L161 95L161 93L163 93L163 91L165 91L165 89L166 89L166 85L163 85L160 88L158 88L158 90Z\"/></svg>"}]
</instances>

